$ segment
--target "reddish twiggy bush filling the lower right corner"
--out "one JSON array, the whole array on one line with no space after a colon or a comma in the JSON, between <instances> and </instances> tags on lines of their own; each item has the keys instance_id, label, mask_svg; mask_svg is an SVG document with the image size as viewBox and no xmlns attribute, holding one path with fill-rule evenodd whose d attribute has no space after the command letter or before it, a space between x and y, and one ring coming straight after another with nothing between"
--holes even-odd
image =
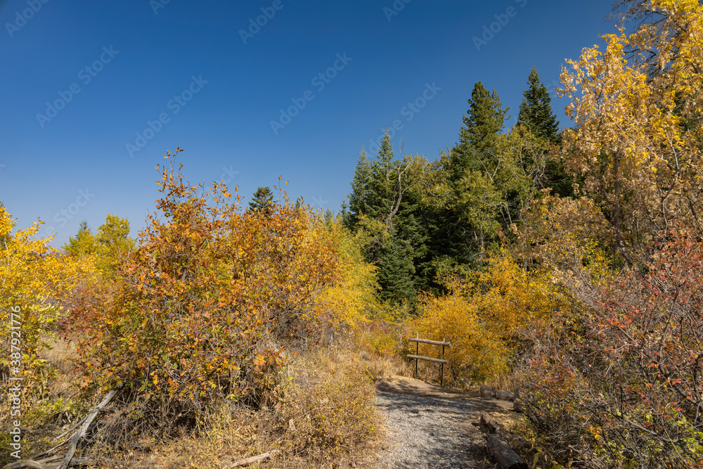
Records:
<instances>
[{"instance_id":1,"label":"reddish twiggy bush filling the lower right corner","mask_svg":"<svg viewBox=\"0 0 703 469\"><path fill-rule=\"evenodd\" d=\"M643 268L587 290L534 336L527 416L563 462L703 465L703 241L672 232Z\"/></svg>"}]
</instances>

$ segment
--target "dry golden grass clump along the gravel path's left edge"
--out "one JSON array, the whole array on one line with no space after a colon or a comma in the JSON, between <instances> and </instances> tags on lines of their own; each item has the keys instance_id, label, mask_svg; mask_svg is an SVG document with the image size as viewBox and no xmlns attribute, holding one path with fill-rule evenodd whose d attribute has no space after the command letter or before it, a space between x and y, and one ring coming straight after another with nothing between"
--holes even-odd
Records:
<instances>
[{"instance_id":1,"label":"dry golden grass clump along the gravel path's left edge","mask_svg":"<svg viewBox=\"0 0 703 469\"><path fill-rule=\"evenodd\" d=\"M253 410L225 401L203 416L200 436L181 435L161 444L140 442L119 455L122 467L228 467L273 449L259 465L271 468L344 468L370 458L380 435L375 388L353 351L330 347L290 356L283 395ZM113 465L117 468L120 465Z\"/></svg>"}]
</instances>

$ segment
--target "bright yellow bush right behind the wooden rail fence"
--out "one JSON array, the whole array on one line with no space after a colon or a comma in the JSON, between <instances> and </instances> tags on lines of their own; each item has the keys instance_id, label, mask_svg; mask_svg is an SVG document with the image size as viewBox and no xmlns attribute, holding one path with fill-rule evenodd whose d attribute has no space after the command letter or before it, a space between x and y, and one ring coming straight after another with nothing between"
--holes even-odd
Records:
<instances>
[{"instance_id":1,"label":"bright yellow bush right behind the wooden rail fence","mask_svg":"<svg viewBox=\"0 0 703 469\"><path fill-rule=\"evenodd\" d=\"M543 271L525 271L501 250L473 281L453 278L446 283L450 293L423 297L418 332L423 338L451 342L445 357L457 377L501 375L510 368L524 328L558 307L549 280Z\"/></svg>"}]
</instances>

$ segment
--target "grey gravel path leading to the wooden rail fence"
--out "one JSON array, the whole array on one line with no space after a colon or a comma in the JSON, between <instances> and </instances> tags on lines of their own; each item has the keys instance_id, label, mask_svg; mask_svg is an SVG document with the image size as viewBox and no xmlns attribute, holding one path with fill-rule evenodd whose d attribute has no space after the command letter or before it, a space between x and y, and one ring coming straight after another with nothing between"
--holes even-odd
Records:
<instances>
[{"instance_id":1,"label":"grey gravel path leading to the wooden rail fence","mask_svg":"<svg viewBox=\"0 0 703 469\"><path fill-rule=\"evenodd\" d=\"M477 422L484 412L508 417L512 403L411 378L378 380L376 390L388 435L373 468L495 467L486 459Z\"/></svg>"}]
</instances>

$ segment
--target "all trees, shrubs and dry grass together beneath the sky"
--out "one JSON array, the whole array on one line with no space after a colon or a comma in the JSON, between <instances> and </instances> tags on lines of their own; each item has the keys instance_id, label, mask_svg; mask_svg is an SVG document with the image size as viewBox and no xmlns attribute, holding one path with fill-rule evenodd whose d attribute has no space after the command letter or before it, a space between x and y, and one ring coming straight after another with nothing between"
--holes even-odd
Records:
<instances>
[{"instance_id":1,"label":"all trees, shrubs and dry grass together beneath the sky","mask_svg":"<svg viewBox=\"0 0 703 469\"><path fill-rule=\"evenodd\" d=\"M409 374L419 333L452 343L449 385L520 390L536 467L703 467L703 6L617 8L628 28L562 69L573 127L537 70L510 129L478 82L456 144L429 160L387 134L336 215L284 184L247 207L193 186L180 148L136 240L108 215L56 250L0 205L23 457L119 390L86 454L361 465L382 439L372 380Z\"/></svg>"}]
</instances>

